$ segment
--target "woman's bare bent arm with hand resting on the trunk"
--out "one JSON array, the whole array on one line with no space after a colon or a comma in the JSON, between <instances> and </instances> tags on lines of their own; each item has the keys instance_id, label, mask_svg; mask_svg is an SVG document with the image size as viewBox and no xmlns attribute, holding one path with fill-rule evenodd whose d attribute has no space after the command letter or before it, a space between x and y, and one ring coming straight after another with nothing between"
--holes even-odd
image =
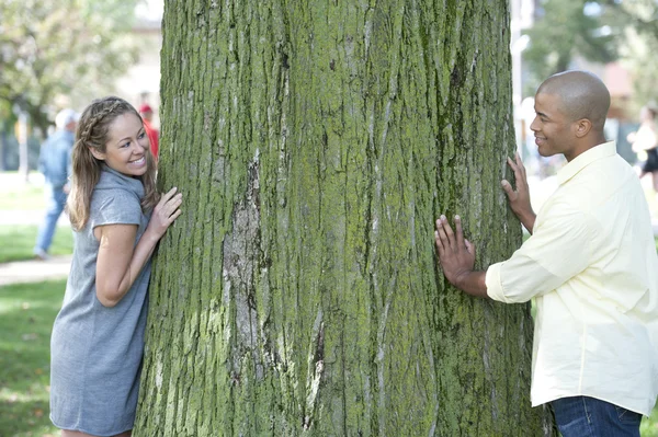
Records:
<instances>
[{"instance_id":1,"label":"woman's bare bent arm with hand resting on the trunk","mask_svg":"<svg viewBox=\"0 0 658 437\"><path fill-rule=\"evenodd\" d=\"M128 292L150 258L156 244L181 215L182 195L170 189L156 205L148 227L135 245L136 225L105 225L94 229L100 241L97 260L97 297L104 307L114 307Z\"/></svg>"}]
</instances>

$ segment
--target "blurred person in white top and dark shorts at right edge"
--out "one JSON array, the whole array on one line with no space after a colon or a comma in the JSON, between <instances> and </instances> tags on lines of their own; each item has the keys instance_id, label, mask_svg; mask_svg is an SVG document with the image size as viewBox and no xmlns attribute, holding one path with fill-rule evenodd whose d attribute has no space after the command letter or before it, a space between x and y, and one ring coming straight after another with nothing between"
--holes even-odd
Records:
<instances>
[{"instance_id":1,"label":"blurred person in white top and dark shorts at right edge","mask_svg":"<svg viewBox=\"0 0 658 437\"><path fill-rule=\"evenodd\" d=\"M654 191L658 192L658 136L656 135L656 113L658 108L646 105L639 113L639 128L628 134L626 139L631 142L637 158L644 161L639 177L651 174Z\"/></svg>"}]
</instances>

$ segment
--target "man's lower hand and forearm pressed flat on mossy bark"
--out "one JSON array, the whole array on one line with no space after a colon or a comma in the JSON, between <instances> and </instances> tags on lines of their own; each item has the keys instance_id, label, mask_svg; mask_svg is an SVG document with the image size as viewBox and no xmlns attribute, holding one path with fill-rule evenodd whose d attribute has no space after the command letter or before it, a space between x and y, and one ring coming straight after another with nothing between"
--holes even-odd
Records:
<instances>
[{"instance_id":1,"label":"man's lower hand and forearm pressed flat on mossy bark","mask_svg":"<svg viewBox=\"0 0 658 437\"><path fill-rule=\"evenodd\" d=\"M436 220L434 241L445 278L470 296L487 297L486 272L474 271L475 245L464 239L462 219L455 216L456 235L445 216Z\"/></svg>"}]
</instances>

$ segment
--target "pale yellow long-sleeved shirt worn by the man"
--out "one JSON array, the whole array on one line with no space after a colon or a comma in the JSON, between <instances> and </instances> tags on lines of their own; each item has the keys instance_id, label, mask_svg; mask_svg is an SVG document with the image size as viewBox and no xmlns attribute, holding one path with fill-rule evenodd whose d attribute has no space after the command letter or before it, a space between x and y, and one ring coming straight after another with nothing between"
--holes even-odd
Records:
<instances>
[{"instance_id":1,"label":"pale yellow long-sleeved shirt worn by the man","mask_svg":"<svg viewBox=\"0 0 658 437\"><path fill-rule=\"evenodd\" d=\"M637 174L614 141L566 164L533 234L487 294L536 298L533 406L587 395L649 415L658 394L658 257Z\"/></svg>"}]
</instances>

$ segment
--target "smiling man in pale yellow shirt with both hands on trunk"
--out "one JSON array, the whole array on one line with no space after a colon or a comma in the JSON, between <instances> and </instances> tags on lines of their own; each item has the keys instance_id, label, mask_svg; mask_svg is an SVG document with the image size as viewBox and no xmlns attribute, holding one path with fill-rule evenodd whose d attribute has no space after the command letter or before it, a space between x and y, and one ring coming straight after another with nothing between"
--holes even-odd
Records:
<instances>
[{"instance_id":1,"label":"smiling man in pale yellow shirt with both hands on trunk","mask_svg":"<svg viewBox=\"0 0 658 437\"><path fill-rule=\"evenodd\" d=\"M525 169L518 154L508 159L517 189L502 187L532 234L509 260L474 271L458 216L455 232L441 216L434 235L455 287L506 303L535 298L531 400L552 404L565 437L639 436L658 393L658 257L639 180L604 138L609 107L589 72L540 87L535 143L568 162L535 216Z\"/></svg>"}]
</instances>

